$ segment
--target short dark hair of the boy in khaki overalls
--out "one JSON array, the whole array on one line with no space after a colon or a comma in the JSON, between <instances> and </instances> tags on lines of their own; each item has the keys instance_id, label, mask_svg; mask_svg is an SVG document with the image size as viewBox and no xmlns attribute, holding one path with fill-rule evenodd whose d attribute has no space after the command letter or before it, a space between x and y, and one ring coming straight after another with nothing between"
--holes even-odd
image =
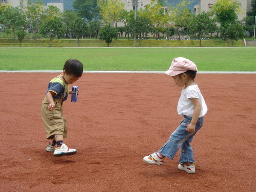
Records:
<instances>
[{"instance_id":1,"label":"short dark hair of the boy in khaki overalls","mask_svg":"<svg viewBox=\"0 0 256 192\"><path fill-rule=\"evenodd\" d=\"M76 59L69 59L65 62L63 70L66 71L67 75L73 75L81 77L83 74L83 64Z\"/></svg>"}]
</instances>

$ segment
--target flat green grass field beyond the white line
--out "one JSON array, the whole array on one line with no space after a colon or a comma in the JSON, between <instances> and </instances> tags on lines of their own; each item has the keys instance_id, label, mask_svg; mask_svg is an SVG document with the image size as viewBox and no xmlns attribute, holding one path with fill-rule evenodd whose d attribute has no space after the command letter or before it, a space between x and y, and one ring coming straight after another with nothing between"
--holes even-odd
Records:
<instances>
[{"instance_id":1,"label":"flat green grass field beyond the white line","mask_svg":"<svg viewBox=\"0 0 256 192\"><path fill-rule=\"evenodd\" d=\"M256 71L256 47L0 49L0 70L62 70L67 59L84 70L166 71L176 57L199 71Z\"/></svg>"}]
</instances>

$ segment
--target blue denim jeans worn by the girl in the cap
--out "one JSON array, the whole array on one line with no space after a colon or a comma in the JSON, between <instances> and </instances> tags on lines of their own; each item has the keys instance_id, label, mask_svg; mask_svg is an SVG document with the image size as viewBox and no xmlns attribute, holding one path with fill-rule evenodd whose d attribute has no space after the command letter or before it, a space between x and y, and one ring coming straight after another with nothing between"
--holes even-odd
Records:
<instances>
[{"instance_id":1,"label":"blue denim jeans worn by the girl in the cap","mask_svg":"<svg viewBox=\"0 0 256 192\"><path fill-rule=\"evenodd\" d=\"M197 124L195 125L195 132L186 131L187 126L191 122L192 117L184 116L184 119L181 120L179 127L171 134L171 137L162 148L159 149L159 152L173 160L175 154L181 147L180 160L179 163L192 162L195 163L193 148L190 144L194 139L197 131L203 126L204 117L198 119Z\"/></svg>"}]
</instances>

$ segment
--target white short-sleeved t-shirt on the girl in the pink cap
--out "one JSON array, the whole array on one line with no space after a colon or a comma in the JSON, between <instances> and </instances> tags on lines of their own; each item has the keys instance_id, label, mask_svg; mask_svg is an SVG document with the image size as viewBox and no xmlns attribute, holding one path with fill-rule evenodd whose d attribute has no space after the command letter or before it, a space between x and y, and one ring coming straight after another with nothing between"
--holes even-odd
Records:
<instances>
[{"instance_id":1,"label":"white short-sleeved t-shirt on the girl in the pink cap","mask_svg":"<svg viewBox=\"0 0 256 192\"><path fill-rule=\"evenodd\" d=\"M197 84L190 85L189 87L181 91L181 96L177 106L178 114L180 116L186 115L193 117L194 105L189 98L198 98L200 100L202 108L199 117L204 116L207 113L207 105Z\"/></svg>"}]
</instances>

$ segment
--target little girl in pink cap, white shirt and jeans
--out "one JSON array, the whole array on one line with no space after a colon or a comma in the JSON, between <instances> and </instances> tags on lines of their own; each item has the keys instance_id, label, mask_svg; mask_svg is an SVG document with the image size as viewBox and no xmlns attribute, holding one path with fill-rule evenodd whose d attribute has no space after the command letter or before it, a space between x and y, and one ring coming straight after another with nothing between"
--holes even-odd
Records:
<instances>
[{"instance_id":1,"label":"little girl in pink cap, white shirt and jeans","mask_svg":"<svg viewBox=\"0 0 256 192\"><path fill-rule=\"evenodd\" d=\"M177 112L184 119L181 120L178 128L171 134L171 137L159 149L143 161L151 165L163 165L164 157L173 160L175 154L181 148L178 169L187 173L195 173L195 160L191 142L202 127L204 115L207 113L207 105L204 101L198 85L195 84L197 73L196 65L189 59L178 57L172 61L171 67L165 73L172 76L175 85L183 87L177 105Z\"/></svg>"}]
</instances>

